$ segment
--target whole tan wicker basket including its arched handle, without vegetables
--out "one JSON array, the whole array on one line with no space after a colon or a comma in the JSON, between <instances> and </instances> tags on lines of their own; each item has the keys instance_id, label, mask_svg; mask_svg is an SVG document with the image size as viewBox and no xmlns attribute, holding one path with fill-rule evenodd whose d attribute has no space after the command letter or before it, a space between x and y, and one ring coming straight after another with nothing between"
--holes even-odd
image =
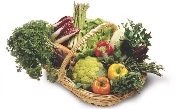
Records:
<instances>
[{"instance_id":1,"label":"whole tan wicker basket including its arched handle, without vegetables","mask_svg":"<svg viewBox=\"0 0 177 109\"><path fill-rule=\"evenodd\" d=\"M112 106L114 104L120 103L123 100L133 96L136 91L131 91L130 93L127 93L123 96L118 95L118 94L110 94L110 95L100 95L100 94L95 94L89 91L86 91L82 88L74 88L75 83L66 76L66 70L65 67L68 64L69 60L71 59L73 53L76 52L76 50L93 34L97 33L99 30L106 28L106 27L112 27L114 31L118 29L118 27L113 24L113 23L103 23L99 26L97 26L95 29L92 29L89 33L87 33L82 39L77 42L77 44L71 49L70 53L66 56L64 59L60 69L58 70L58 79L57 82L62 84L65 88L67 88L69 91L71 91L75 96L80 98L81 100L92 104L96 106ZM142 75L142 79L145 83L146 80L146 75Z\"/></svg>"}]
</instances>

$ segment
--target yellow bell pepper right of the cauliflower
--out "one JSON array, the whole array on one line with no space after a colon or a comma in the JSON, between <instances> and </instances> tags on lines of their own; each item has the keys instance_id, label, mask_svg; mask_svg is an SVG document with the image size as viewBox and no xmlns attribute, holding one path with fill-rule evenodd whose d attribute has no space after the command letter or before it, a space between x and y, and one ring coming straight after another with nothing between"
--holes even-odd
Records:
<instances>
[{"instance_id":1,"label":"yellow bell pepper right of the cauliflower","mask_svg":"<svg viewBox=\"0 0 177 109\"><path fill-rule=\"evenodd\" d=\"M108 69L108 78L110 80L115 79L116 77L121 78L128 73L128 70L123 64L112 64Z\"/></svg>"}]
</instances>

